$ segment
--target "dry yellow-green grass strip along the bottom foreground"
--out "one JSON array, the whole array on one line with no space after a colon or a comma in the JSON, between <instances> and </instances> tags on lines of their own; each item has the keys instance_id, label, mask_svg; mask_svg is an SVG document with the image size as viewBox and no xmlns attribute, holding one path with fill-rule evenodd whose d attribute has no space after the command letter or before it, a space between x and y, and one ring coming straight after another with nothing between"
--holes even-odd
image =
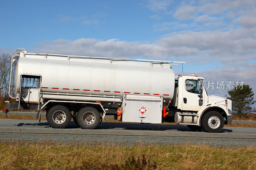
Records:
<instances>
[{"instance_id":1,"label":"dry yellow-green grass strip along the bottom foreground","mask_svg":"<svg viewBox=\"0 0 256 170\"><path fill-rule=\"evenodd\" d=\"M0 169L256 169L256 147L0 141Z\"/></svg>"}]
</instances>

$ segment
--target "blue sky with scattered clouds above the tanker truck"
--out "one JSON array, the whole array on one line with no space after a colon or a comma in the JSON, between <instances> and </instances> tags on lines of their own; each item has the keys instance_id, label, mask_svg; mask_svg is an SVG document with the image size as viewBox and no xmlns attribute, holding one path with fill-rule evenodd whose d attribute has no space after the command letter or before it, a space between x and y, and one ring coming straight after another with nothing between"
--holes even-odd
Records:
<instances>
[{"instance_id":1,"label":"blue sky with scattered clouds above the tanker truck","mask_svg":"<svg viewBox=\"0 0 256 170\"><path fill-rule=\"evenodd\" d=\"M1 1L0 53L186 61L186 74L254 91L256 2ZM181 66L174 66L180 73ZM209 90L208 90L209 91ZM210 90L223 96L227 90Z\"/></svg>"}]
</instances>

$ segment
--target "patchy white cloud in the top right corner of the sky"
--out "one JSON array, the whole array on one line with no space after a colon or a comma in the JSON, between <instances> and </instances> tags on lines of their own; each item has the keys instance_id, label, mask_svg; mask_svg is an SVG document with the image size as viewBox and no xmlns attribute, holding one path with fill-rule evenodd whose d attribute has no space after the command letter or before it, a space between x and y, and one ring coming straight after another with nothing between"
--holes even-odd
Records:
<instances>
[{"instance_id":1,"label":"patchy white cloud in the top right corner of the sky","mask_svg":"<svg viewBox=\"0 0 256 170\"><path fill-rule=\"evenodd\" d=\"M203 29L230 29L240 25L252 28L256 25L255 1L198 1L181 2L173 13L180 21L192 20Z\"/></svg>"}]
</instances>

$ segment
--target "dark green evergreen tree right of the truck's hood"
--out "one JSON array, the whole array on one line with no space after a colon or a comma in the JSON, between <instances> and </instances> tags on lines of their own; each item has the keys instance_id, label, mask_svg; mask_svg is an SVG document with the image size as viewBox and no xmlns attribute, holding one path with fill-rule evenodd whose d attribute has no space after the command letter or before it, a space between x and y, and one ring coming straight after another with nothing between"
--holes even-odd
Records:
<instances>
[{"instance_id":1,"label":"dark green evergreen tree right of the truck's hood","mask_svg":"<svg viewBox=\"0 0 256 170\"><path fill-rule=\"evenodd\" d=\"M255 103L253 101L253 91L249 85L243 85L241 87L235 87L233 90L228 91L231 97L228 99L232 100L232 112L238 117L246 116L250 112L255 112L255 108L251 105Z\"/></svg>"}]
</instances>

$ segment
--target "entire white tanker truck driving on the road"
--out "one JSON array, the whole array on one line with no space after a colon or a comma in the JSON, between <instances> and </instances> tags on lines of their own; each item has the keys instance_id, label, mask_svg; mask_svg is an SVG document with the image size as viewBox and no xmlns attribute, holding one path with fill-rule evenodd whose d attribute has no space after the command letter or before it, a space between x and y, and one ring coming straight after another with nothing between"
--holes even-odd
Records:
<instances>
[{"instance_id":1,"label":"entire white tanker truck driving on the road","mask_svg":"<svg viewBox=\"0 0 256 170\"><path fill-rule=\"evenodd\" d=\"M9 84L9 96L16 102L6 101L3 112L7 117L13 110L37 110L40 121L46 110L52 128L65 128L73 118L81 128L94 129L105 115L122 122L175 122L206 132L219 132L232 123L231 100L208 95L203 77L174 75L173 63L17 49Z\"/></svg>"}]
</instances>

